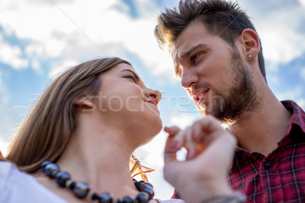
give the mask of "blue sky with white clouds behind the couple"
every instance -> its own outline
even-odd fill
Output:
[[[280,99],[305,109],[305,0],[238,0],[262,40],[267,80]],[[147,87],[163,93],[164,125],[185,127],[200,118],[180,81],[170,55],[154,37],[158,14],[178,0],[2,0],[0,2],[0,149],[37,95],[61,70],[101,56],[130,61]],[[162,179],[166,134],[138,150],[156,196],[172,187]]]

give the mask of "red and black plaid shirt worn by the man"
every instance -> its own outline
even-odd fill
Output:
[[[305,202],[305,113],[294,101],[282,104],[292,118],[275,151],[265,157],[236,149],[230,186],[247,202]]]

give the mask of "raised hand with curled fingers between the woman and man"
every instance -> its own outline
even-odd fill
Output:
[[[236,148],[235,137],[218,120],[206,116],[185,130],[165,127],[169,133],[164,152],[164,177],[186,202],[231,194],[227,183],[228,167]],[[176,152],[185,147],[185,161]]]

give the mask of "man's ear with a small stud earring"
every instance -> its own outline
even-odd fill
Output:
[[[243,54],[248,60],[253,60],[260,50],[257,33],[252,29],[244,29],[239,36],[239,41],[243,46]]]

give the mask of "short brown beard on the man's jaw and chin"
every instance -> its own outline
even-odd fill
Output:
[[[232,84],[229,88],[226,88],[228,90],[214,90],[216,94],[212,96],[210,89],[208,98],[210,98],[211,102],[208,105],[203,103],[199,107],[195,103],[202,116],[213,115],[227,125],[232,125],[237,120],[242,119],[245,116],[245,112],[256,110],[260,100],[256,94],[253,75],[249,67],[242,62],[237,48],[233,47],[231,53],[229,68],[234,80],[231,81]]]

